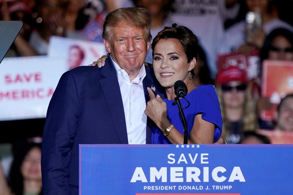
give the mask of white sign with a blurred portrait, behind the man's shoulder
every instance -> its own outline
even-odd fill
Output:
[[[48,56],[63,56],[68,70],[78,66],[87,66],[107,54],[105,45],[65,37],[50,37]]]

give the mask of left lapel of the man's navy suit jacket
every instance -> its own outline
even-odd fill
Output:
[[[121,144],[128,144],[123,101],[117,79],[117,73],[110,58],[106,59],[105,64],[106,65],[100,72],[100,74],[105,78],[101,79],[99,82],[105,95],[105,99]]]

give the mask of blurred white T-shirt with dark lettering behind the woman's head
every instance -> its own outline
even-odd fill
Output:
[[[192,30],[205,51],[211,77],[216,78],[216,65],[224,38],[224,21],[235,18],[239,11],[239,0],[181,1],[174,0],[169,16],[172,22]],[[234,36],[234,35],[233,35]]]

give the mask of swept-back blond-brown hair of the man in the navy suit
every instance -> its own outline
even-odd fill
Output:
[[[121,21],[127,21],[129,24],[144,29],[144,38],[151,41],[151,13],[145,8],[120,8],[110,13],[105,18],[103,25],[103,38],[110,40],[110,28]]]

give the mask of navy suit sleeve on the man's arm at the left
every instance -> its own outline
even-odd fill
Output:
[[[64,73],[49,103],[42,142],[44,194],[69,194],[69,162],[78,126],[79,98],[72,73]]]

